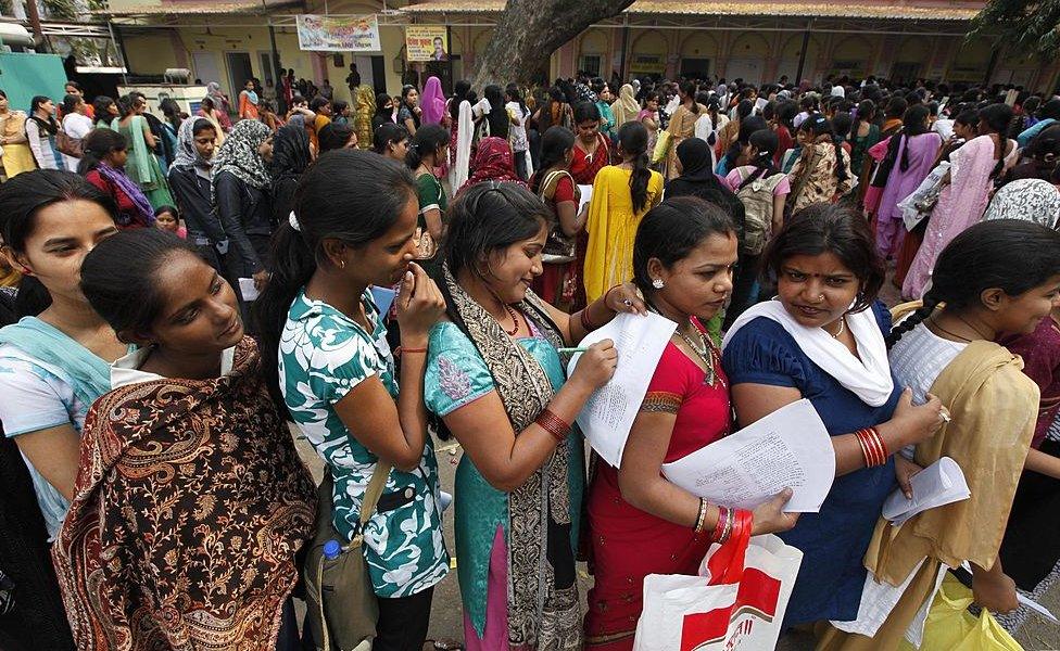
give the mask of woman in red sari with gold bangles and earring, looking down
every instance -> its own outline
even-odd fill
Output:
[[[732,293],[736,231],[720,207],[691,196],[667,200],[644,216],[633,245],[633,276],[649,309],[678,323],[633,421],[621,467],[598,460],[590,488],[595,587],[585,616],[586,648],[633,648],[648,574],[696,574],[714,541],[740,527],[786,531],[784,490],[755,510],[727,509],[660,473],[731,432],[729,382],[703,323]]]

